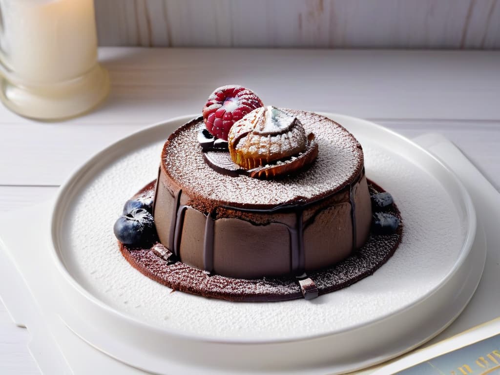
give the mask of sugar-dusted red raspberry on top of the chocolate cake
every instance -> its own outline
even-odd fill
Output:
[[[248,88],[235,84],[222,86],[208,96],[203,107],[203,121],[212,135],[227,140],[234,122],[263,105],[262,100]]]

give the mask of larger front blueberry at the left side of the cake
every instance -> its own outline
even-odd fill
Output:
[[[153,216],[144,208],[135,208],[116,220],[113,232],[125,244],[148,243],[154,238]]]

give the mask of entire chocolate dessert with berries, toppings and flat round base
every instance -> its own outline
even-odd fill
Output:
[[[215,114],[226,104],[214,102],[168,137],[156,182],[125,204],[121,222],[134,231],[115,224],[134,267],[195,294],[282,300],[338,289],[386,261],[400,241],[399,211],[390,194],[368,187],[352,134],[260,99],[224,127],[227,114],[225,122]]]

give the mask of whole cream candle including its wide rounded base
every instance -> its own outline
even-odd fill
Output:
[[[97,64],[93,0],[0,0],[0,95],[35,118],[68,117],[107,92]]]

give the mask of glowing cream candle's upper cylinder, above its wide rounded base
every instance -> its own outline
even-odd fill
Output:
[[[92,0],[0,0],[4,63],[20,79],[57,82],[96,60]]]

